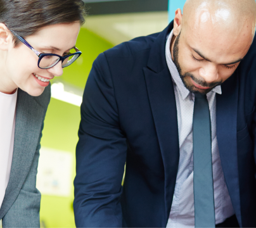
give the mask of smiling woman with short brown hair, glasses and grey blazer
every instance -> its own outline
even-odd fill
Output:
[[[35,181],[49,81],[80,56],[75,42],[84,15],[82,0],[0,0],[3,227],[40,226]]]

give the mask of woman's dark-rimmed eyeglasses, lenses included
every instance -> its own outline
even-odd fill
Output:
[[[15,35],[23,44],[25,44],[27,47],[29,47],[34,53],[38,56],[38,67],[41,69],[49,69],[53,66],[55,66],[59,61],[62,62],[61,66],[62,68],[70,66],[72,63],[74,63],[77,58],[82,54],[77,47],[74,47],[75,53],[67,53],[65,56],[60,56],[58,54],[51,54],[51,53],[40,53],[39,51],[35,50],[25,39],[20,37],[20,35],[17,35],[13,30],[10,30],[13,35]]]

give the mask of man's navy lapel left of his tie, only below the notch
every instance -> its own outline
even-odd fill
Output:
[[[160,73],[144,68],[148,96],[157,130],[163,166],[165,170],[165,215],[166,221],[172,205],[172,197],[179,167],[179,136],[177,109],[169,69]],[[166,224],[162,224],[163,227]]]

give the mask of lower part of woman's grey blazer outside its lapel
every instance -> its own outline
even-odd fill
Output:
[[[42,129],[43,126],[44,124],[42,124]],[[22,189],[20,189],[15,203],[13,203],[10,210],[3,217],[3,227],[40,227],[41,193],[35,187],[35,183],[42,129],[29,174],[25,179]]]

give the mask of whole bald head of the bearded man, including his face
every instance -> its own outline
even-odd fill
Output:
[[[187,0],[176,10],[172,59],[184,85],[207,93],[233,75],[255,35],[255,0]]]

